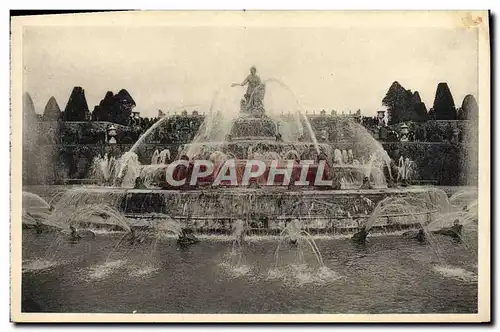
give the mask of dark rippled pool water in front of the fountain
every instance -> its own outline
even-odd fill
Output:
[[[77,243],[23,231],[23,312],[74,313],[474,313],[475,240],[433,246],[401,236],[316,239],[325,266],[276,238],[204,238],[187,250],[174,239],[116,246],[121,235]],[[436,254],[439,253],[439,255]]]

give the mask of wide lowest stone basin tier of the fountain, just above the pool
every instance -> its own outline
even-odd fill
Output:
[[[276,235],[292,219],[303,221],[313,234],[355,233],[372,215],[376,205],[387,197],[429,202],[412,213],[377,216],[373,231],[398,231],[428,224],[438,213],[429,187],[288,190],[280,187],[217,188],[197,190],[129,189],[80,187],[65,193],[71,205],[56,211],[71,214],[76,207],[104,204],[123,215],[131,227],[148,228],[172,218],[198,233],[228,234],[237,219],[247,220],[250,233]],[[69,216],[71,219],[71,216]]]

